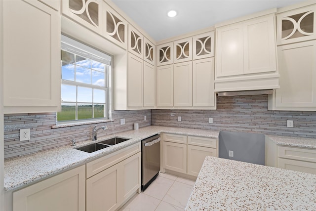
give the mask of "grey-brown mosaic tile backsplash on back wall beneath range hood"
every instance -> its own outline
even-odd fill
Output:
[[[268,95],[217,97],[217,110],[152,110],[152,125],[316,138],[316,112],[268,111]]]

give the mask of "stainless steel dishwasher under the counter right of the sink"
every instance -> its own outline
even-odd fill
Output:
[[[142,140],[142,190],[158,176],[160,170],[160,135]]]

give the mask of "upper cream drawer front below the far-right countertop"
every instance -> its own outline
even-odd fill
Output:
[[[316,162],[316,150],[300,147],[278,147],[278,157],[300,161]]]

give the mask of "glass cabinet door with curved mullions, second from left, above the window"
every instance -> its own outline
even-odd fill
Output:
[[[103,36],[127,49],[127,22],[105,2],[102,10]]]

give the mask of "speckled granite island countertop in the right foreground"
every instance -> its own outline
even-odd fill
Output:
[[[316,210],[316,175],[208,156],[185,210]]]

